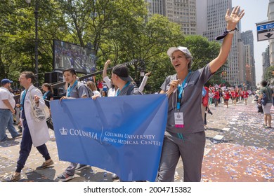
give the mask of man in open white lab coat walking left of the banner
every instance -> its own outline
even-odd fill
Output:
[[[48,148],[46,147],[46,142],[49,140],[48,126],[46,125],[46,119],[37,122],[35,117],[32,115],[32,102],[39,109],[44,109],[46,105],[41,91],[34,87],[35,76],[31,71],[24,71],[20,73],[19,82],[25,90],[21,94],[21,116],[20,120],[22,123],[22,141],[20,144],[19,158],[14,174],[7,176],[5,181],[18,181],[20,180],[20,173],[22,168],[25,166],[30,151],[32,149],[32,144],[37,148],[39,153],[43,155],[45,162],[37,167],[36,169],[45,169],[46,167],[51,167],[53,165],[53,160],[48,153]]]

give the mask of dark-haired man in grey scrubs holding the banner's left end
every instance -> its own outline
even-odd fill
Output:
[[[77,75],[74,69],[70,68],[63,70],[63,76],[65,78],[65,82],[69,84],[69,87],[67,87],[66,95],[61,97],[60,101],[63,99],[86,98],[88,96],[88,89],[84,86],[84,83],[78,83]],[[57,179],[64,182],[74,179],[75,172],[78,172],[86,167],[90,166],[70,162],[70,166],[65,169],[65,172],[59,174]]]

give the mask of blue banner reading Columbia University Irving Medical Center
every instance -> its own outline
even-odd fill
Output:
[[[51,102],[60,160],[155,181],[167,124],[165,94]]]

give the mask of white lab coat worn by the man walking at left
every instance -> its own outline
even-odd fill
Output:
[[[34,95],[37,95],[38,97],[40,97],[39,109],[44,109],[44,106],[46,106],[46,104],[43,99],[43,94],[41,93],[41,91],[37,87],[34,87],[34,85],[31,85],[29,87],[29,90],[27,90],[24,109],[25,109],[25,116],[27,119],[27,125],[30,130],[30,136],[32,137],[33,146],[37,147],[45,144],[50,137],[48,133],[48,125],[46,125],[46,120],[41,120],[40,122],[37,122],[34,120],[34,117],[32,117],[32,111],[31,111],[32,100],[30,98],[30,92],[32,93],[32,99],[34,99]],[[22,93],[21,93],[20,99],[22,99]],[[22,131],[24,131],[24,127],[22,127]]]

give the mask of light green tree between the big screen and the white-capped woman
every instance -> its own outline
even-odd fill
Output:
[[[163,53],[167,51],[169,45],[182,40],[183,34],[178,25],[169,22],[162,15],[152,15],[151,18],[140,16],[135,18],[135,22],[132,20],[134,18],[129,20],[129,23],[124,20],[123,27],[111,31],[109,36],[112,38],[111,41],[107,40],[108,44],[105,43],[102,48],[116,54],[115,58],[119,59],[120,62],[143,59],[147,66],[146,69],[154,72],[151,76],[152,80],[157,82],[158,79],[163,79],[166,74],[164,70],[167,64],[163,62],[165,57]],[[155,74],[154,67],[152,67],[155,64],[157,64],[157,69],[163,71],[162,73]],[[131,76],[140,80],[137,65],[132,68]]]

